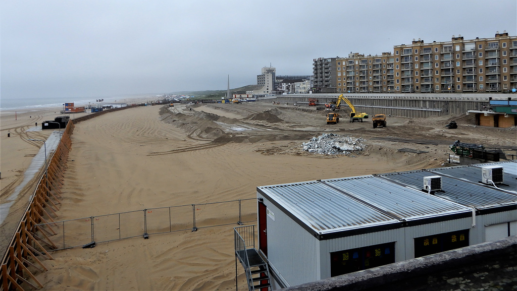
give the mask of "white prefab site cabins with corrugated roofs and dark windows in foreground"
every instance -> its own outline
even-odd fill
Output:
[[[517,235],[517,193],[440,170],[257,187],[272,289]]]

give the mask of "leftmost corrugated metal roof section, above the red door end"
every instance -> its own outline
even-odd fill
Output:
[[[399,222],[320,182],[257,187],[317,232]]]

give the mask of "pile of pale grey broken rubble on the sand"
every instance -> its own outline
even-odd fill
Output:
[[[342,136],[333,133],[324,133],[303,143],[303,150],[322,155],[349,155],[366,149],[362,144],[362,137]]]

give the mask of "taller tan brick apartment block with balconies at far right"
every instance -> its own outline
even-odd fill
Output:
[[[517,89],[517,37],[496,33],[494,38],[393,47],[396,93],[498,93]]]

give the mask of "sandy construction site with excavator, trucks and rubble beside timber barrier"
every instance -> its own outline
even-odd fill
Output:
[[[31,252],[38,253],[28,259],[40,259],[39,270],[19,268],[27,278],[18,283],[22,289],[70,285],[77,289],[233,289],[236,283],[245,286],[247,279],[241,269],[235,279],[233,225],[206,228],[226,225],[219,221],[229,211],[208,207],[211,203],[238,200],[238,218],[232,223],[255,224],[256,208],[243,206],[241,213],[240,201],[256,199],[256,189],[262,185],[517,159],[515,126],[479,126],[475,114],[432,106],[423,109],[434,111],[421,111],[432,116],[408,117],[401,114],[401,108],[368,108],[352,97],[347,99],[357,112],[369,117],[362,115],[362,122],[349,120],[349,106],[326,109],[325,104],[337,102],[338,96],[314,101],[288,96],[241,103],[132,106],[70,120],[73,134],[67,128],[62,137],[66,144],[59,151],[66,155],[58,157],[59,170],[53,166],[49,182],[43,175],[37,190],[42,196],[35,205],[45,208],[49,217],[41,212],[41,218],[36,215],[27,222],[31,229],[38,224],[47,230],[34,236],[30,229],[22,229],[21,238],[11,239],[12,255],[7,252],[4,258],[16,265],[14,257],[28,253],[21,247],[27,241],[32,243]],[[447,102],[448,108],[465,106]],[[328,124],[330,112],[344,116],[343,120]],[[384,114],[385,120],[374,127],[371,118],[377,114]],[[451,121],[455,127],[448,126]],[[14,186],[11,183],[11,189]],[[20,216],[25,217],[29,195],[14,202],[12,215],[2,225],[4,233],[16,231]],[[54,202],[48,202],[49,198]],[[171,232],[164,227],[151,229],[153,234],[149,234],[149,229],[135,224],[134,217],[127,224],[96,231],[96,236],[109,237],[120,235],[121,226],[133,225],[131,235],[94,240],[88,231],[90,223],[93,228],[94,221],[113,213],[144,210],[150,217],[151,209],[156,213],[158,208],[180,205],[188,205],[197,211],[196,219],[203,220],[171,234],[164,234]],[[65,225],[66,221],[86,223],[63,229],[73,236],[74,246],[87,248],[67,244],[64,230],[58,235],[60,228],[53,224]],[[81,233],[70,229],[81,229]],[[5,249],[9,239],[2,241]],[[214,259],[207,262],[207,257]],[[122,270],[120,264],[128,268]],[[16,289],[17,267],[4,266],[3,289]],[[27,272],[34,272],[34,277],[27,277]],[[4,277],[8,273],[9,280]],[[135,280],[127,280],[130,277]]]

